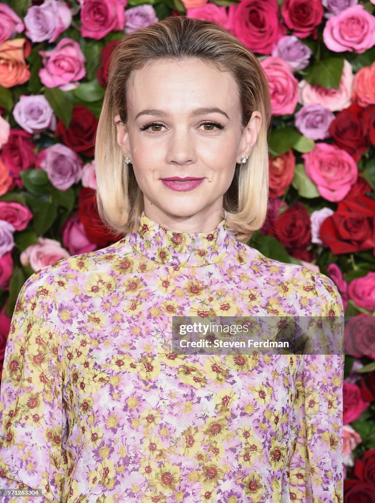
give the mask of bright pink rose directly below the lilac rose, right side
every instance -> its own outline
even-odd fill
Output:
[[[358,167],[353,157],[335,145],[317,143],[302,157],[306,175],[327,201],[342,201],[357,181]]]

